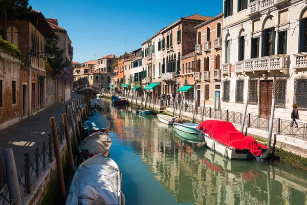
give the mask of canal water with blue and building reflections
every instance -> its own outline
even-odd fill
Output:
[[[108,104],[110,157],[126,204],[307,204],[307,175],[281,163],[227,160],[192,135]]]

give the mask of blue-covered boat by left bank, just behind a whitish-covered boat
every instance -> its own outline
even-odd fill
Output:
[[[110,122],[102,115],[93,115],[89,119],[83,122],[83,127],[86,129],[87,135],[90,135],[95,132],[104,132],[110,129]]]

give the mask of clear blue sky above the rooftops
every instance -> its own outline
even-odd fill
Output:
[[[59,26],[68,31],[74,47],[73,60],[79,63],[141,48],[146,39],[180,17],[221,13],[222,3],[222,0],[29,0],[33,9],[47,18],[57,18]]]

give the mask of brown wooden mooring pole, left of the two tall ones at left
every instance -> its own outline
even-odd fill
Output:
[[[53,138],[53,149],[54,149],[54,154],[55,154],[56,167],[57,167],[57,172],[58,172],[58,177],[59,177],[60,197],[62,201],[65,201],[65,196],[66,196],[65,182],[64,182],[64,175],[63,175],[63,169],[62,169],[58,135],[57,135],[57,130],[56,130],[56,122],[55,122],[54,117],[50,118],[50,124],[51,124],[52,138]]]

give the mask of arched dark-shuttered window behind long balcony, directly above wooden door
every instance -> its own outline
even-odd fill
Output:
[[[262,33],[262,57],[274,55],[275,53],[275,31],[274,28],[264,30]]]

